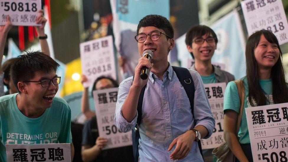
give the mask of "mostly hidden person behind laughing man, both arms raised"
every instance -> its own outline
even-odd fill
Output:
[[[44,31],[44,27],[45,27],[47,20],[45,19],[45,17],[43,17],[43,10],[39,10],[38,12],[40,14],[36,18],[36,23],[41,24],[41,26],[36,26],[36,30],[37,30],[37,33],[39,35],[39,42],[40,42],[41,50],[46,55],[50,56],[49,46],[48,46],[48,42],[46,40],[47,35],[45,35],[45,31]],[[1,60],[2,60],[3,55],[4,55],[4,47],[5,47],[5,42],[7,39],[7,34],[12,27],[9,16],[7,16],[6,21],[7,21],[7,23],[5,26],[2,26],[2,25],[0,26],[2,29],[2,30],[0,30],[1,31],[1,33],[0,33],[0,41],[1,41],[1,44],[0,44],[0,62],[2,62]],[[6,60],[5,63],[3,63],[3,65],[0,66],[0,73],[2,72],[2,74],[0,74],[0,76],[3,75],[3,79],[1,79],[1,77],[0,77],[0,80],[1,81],[3,80],[4,85],[8,89],[6,94],[17,93],[17,89],[14,86],[14,83],[13,83],[12,78],[10,76],[11,65],[17,59],[18,58],[11,58],[9,60]],[[4,72],[4,74],[3,74],[3,72]],[[3,86],[0,85],[0,87],[2,88]],[[3,90],[1,90],[1,88],[0,88],[0,93],[3,92]],[[3,95],[0,94],[0,96],[3,96]]]

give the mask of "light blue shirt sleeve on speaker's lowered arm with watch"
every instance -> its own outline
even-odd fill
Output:
[[[211,107],[206,95],[205,87],[202,79],[197,71],[189,70],[194,81],[194,120],[195,127],[202,125],[207,128],[208,135],[204,139],[209,138],[215,127],[215,120],[211,111]]]

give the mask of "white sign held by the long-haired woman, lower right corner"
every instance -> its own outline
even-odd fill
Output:
[[[246,108],[253,161],[288,161],[288,103]]]

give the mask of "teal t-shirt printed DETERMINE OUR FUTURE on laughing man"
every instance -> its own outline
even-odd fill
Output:
[[[0,97],[0,161],[6,160],[5,144],[72,143],[71,110],[54,97],[52,106],[38,118],[20,112],[16,94]]]

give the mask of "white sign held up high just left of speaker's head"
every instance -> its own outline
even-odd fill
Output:
[[[88,81],[84,87],[92,86],[99,76],[110,76],[116,80],[112,35],[80,43],[82,73]]]

